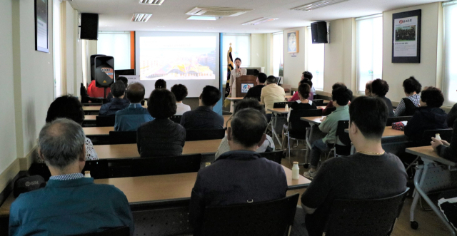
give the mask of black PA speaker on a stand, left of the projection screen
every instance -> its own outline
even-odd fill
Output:
[[[95,86],[105,88],[104,98],[106,98],[106,88],[114,83],[114,57],[96,56],[95,57]]]

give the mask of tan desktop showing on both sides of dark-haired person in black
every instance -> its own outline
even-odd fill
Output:
[[[183,155],[197,153],[216,153],[221,139],[187,141],[184,144]],[[94,150],[99,159],[110,158],[138,158],[138,148],[136,143],[116,144],[116,145],[94,145]]]

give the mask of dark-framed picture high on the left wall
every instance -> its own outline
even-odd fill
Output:
[[[35,1],[35,50],[49,53],[48,0]]]

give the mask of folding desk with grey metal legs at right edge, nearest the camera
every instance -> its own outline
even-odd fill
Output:
[[[457,187],[457,171],[456,163],[450,160],[441,158],[431,146],[417,147],[417,148],[406,148],[406,153],[418,155],[423,160],[423,165],[418,165],[416,168],[416,174],[414,175],[414,186],[416,191],[411,204],[409,212],[409,220],[411,227],[413,225],[418,226],[418,222],[414,220],[414,211],[420,197],[423,197],[428,205],[432,208],[433,212],[438,215],[440,220],[443,222],[448,230],[451,231],[451,235],[456,235],[456,231],[449,224],[446,217],[444,217],[441,210],[432,202],[428,197],[428,193],[448,190]]]

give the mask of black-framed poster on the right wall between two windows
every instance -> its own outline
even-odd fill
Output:
[[[392,63],[421,63],[421,10],[392,15]]]

